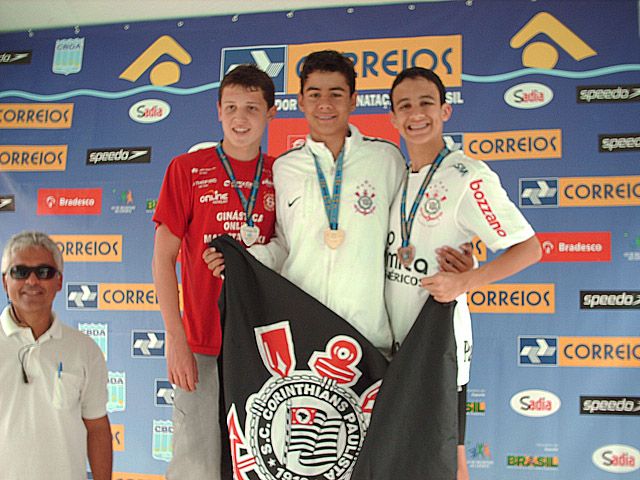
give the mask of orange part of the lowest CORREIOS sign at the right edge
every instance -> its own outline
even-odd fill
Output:
[[[560,337],[562,367],[640,367],[640,337]]]

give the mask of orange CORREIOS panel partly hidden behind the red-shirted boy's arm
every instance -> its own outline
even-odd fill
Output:
[[[182,285],[178,285],[182,310]],[[99,310],[160,310],[153,283],[101,283]]]

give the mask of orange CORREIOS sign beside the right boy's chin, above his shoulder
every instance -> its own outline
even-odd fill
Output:
[[[511,130],[464,134],[465,151],[478,160],[562,158],[562,130]]]

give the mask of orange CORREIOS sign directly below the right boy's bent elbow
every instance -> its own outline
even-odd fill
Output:
[[[474,313],[554,313],[555,284],[502,283],[482,287],[467,295]]]

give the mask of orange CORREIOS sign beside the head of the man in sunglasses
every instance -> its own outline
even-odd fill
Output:
[[[51,235],[65,262],[122,262],[122,235]]]

